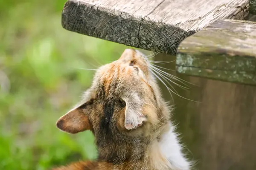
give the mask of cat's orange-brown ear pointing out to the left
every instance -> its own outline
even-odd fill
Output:
[[[78,133],[85,130],[90,130],[91,125],[86,114],[87,103],[73,108],[71,111],[61,116],[56,125],[57,127],[67,133]]]

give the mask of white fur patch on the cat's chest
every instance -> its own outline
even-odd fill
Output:
[[[190,163],[182,153],[182,146],[171,122],[169,130],[152,146],[151,154],[151,164],[157,170],[190,170]]]

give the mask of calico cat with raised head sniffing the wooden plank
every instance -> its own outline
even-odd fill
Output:
[[[91,130],[97,161],[53,170],[190,170],[170,112],[146,56],[125,49],[118,60],[97,69],[79,105],[56,123],[67,133]]]

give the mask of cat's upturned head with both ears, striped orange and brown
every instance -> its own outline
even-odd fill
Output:
[[[57,121],[57,127],[68,133],[91,130],[95,136],[148,136],[168,119],[161,105],[147,58],[126,49],[118,60],[96,71],[82,101]]]

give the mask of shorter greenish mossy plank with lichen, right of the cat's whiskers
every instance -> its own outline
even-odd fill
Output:
[[[256,22],[218,20],[180,43],[177,71],[256,85]]]

